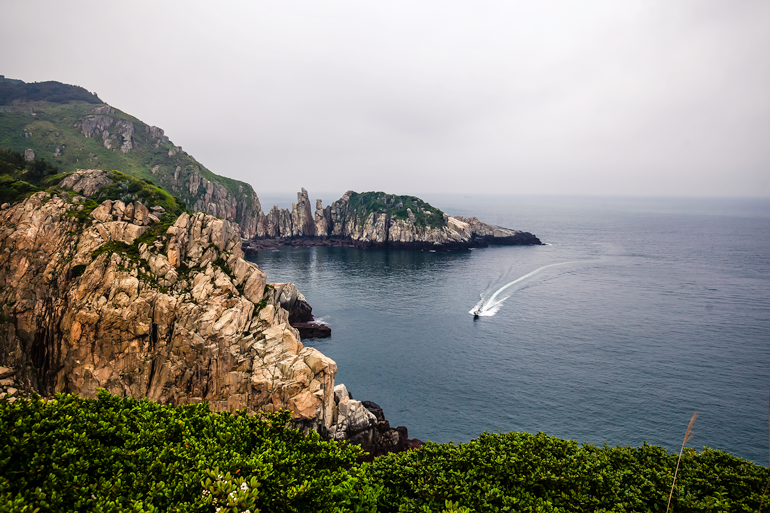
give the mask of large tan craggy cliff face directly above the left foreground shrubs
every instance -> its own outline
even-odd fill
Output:
[[[288,408],[330,428],[336,364],[303,346],[286,287],[243,259],[238,227],[203,213],[171,224],[140,200],[89,207],[109,178],[78,172],[0,210],[0,365],[43,395]]]

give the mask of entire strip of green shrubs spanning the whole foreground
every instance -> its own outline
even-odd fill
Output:
[[[676,465],[660,447],[542,433],[484,433],[356,465],[360,449],[290,420],[106,392],[0,399],[0,511],[658,512]],[[757,511],[769,474],[687,449],[672,511]]]

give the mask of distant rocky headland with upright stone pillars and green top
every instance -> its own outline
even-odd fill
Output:
[[[303,188],[291,210],[258,213],[257,239],[336,240],[365,248],[458,249],[489,244],[537,245],[529,232],[461,216],[452,217],[414,196],[346,192],[326,208]],[[247,247],[259,247],[259,244]]]

